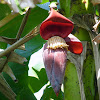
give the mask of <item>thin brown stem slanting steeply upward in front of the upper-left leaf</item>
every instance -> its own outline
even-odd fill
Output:
[[[18,31],[17,36],[16,36],[17,40],[19,40],[20,37],[21,37],[21,34],[22,34],[22,32],[23,32],[23,30],[24,30],[24,27],[25,27],[25,25],[26,25],[26,22],[27,22],[27,20],[28,20],[28,16],[29,16],[29,14],[30,14],[30,11],[31,11],[31,8],[28,9],[28,11],[26,12],[26,14],[25,14],[25,16],[24,16],[24,18],[23,18],[23,20],[22,20],[22,23],[21,23],[21,25],[20,25],[19,31]]]

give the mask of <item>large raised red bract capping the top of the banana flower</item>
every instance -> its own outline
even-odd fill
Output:
[[[51,8],[50,15],[40,26],[40,35],[48,40],[52,36],[67,37],[73,30],[73,23]]]

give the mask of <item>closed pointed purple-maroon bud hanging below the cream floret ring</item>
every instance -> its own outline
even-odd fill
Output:
[[[58,96],[65,74],[67,50],[48,49],[46,43],[43,48],[43,61],[51,86]]]

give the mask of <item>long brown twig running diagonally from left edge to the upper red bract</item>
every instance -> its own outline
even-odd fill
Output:
[[[22,44],[26,43],[27,41],[29,41],[30,39],[32,39],[33,37],[35,37],[36,35],[38,35],[39,34],[39,28],[40,28],[40,25],[38,25],[37,27],[35,27],[31,32],[29,32],[21,40],[15,42],[13,45],[11,45],[7,49],[5,49],[3,52],[0,53],[0,57],[6,56],[7,54],[9,54],[14,49],[17,49],[19,46],[21,46]]]

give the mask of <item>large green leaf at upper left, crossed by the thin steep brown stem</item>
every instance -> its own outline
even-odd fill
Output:
[[[0,28],[0,35],[6,36],[10,38],[15,38],[22,22],[22,18],[24,15],[18,15],[6,25]],[[29,33],[35,26],[40,24],[46,17],[48,16],[48,12],[39,7],[35,7],[31,10],[30,16],[28,18],[27,24],[23,31],[22,37],[25,34]]]

